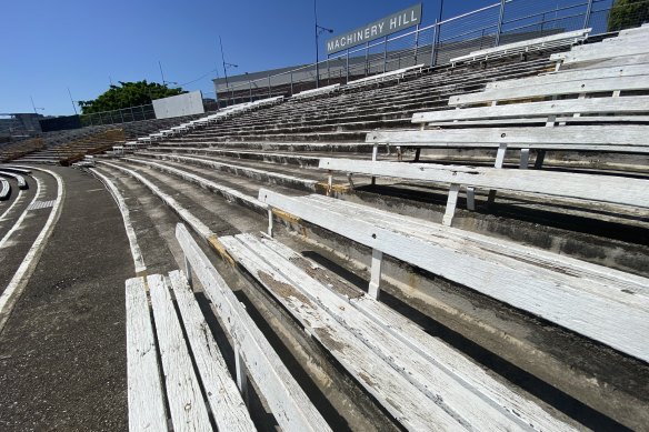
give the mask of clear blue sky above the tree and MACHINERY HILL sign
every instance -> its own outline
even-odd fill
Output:
[[[423,0],[431,23],[440,0]],[[417,0],[319,0],[319,23],[336,33],[416,4]],[[452,17],[496,0],[447,0]],[[312,0],[92,1],[33,0],[2,4],[0,26],[0,112],[72,114],[74,100],[93,99],[118,81],[186,83],[213,91],[219,36],[226,60],[253,72],[314,60]],[[321,58],[326,36],[320,39]],[[210,96],[207,93],[206,96]],[[212,93],[213,96],[213,93]]]

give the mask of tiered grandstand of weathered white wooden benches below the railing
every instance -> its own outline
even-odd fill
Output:
[[[647,420],[641,398],[610,385],[606,372],[580,371],[588,370],[590,359],[598,359],[602,370],[630,364],[630,370],[643,371],[649,362],[643,343],[649,331],[643,254],[649,220],[649,152],[643,138],[649,128],[649,59],[633,36],[643,31],[620,33],[618,38],[633,42],[628,47],[621,39],[605,40],[552,58],[539,54],[521,62],[502,56],[489,64],[458,62],[402,80],[340,86],[254,110],[239,107],[158,132],[141,140],[142,145],[129,144],[136,150],[132,155],[99,158],[98,167],[130,175],[161,198],[213,251],[236,264],[240,275],[274,299],[398,426],[571,428],[397,314],[388,305],[393,301],[377,301],[388,279],[407,285],[408,294],[399,300],[417,311],[425,310],[413,305],[423,302],[418,297],[422,281],[443,284],[439,298],[431,295],[432,302],[441,303],[437,310],[451,310],[433,317],[442,325],[477,343],[475,333],[488,333],[486,338],[495,342],[486,350],[499,361],[605,416],[637,426],[638,419]],[[409,129],[413,123],[417,129]],[[385,155],[379,155],[383,147]],[[405,149],[410,148],[425,149],[415,152],[417,163],[403,162]],[[521,150],[520,155],[508,158],[510,149]],[[539,170],[520,170],[528,168],[530,150]],[[478,163],[457,163],[467,161]],[[519,169],[505,168],[510,162]],[[493,167],[482,167],[487,163]],[[322,181],[322,170],[330,171],[328,182]],[[345,175],[349,173],[360,175]],[[381,178],[380,184],[370,185],[372,177]],[[368,294],[297,253],[281,235],[217,237],[192,208],[180,205],[180,197],[177,200],[167,190],[182,195],[176,184],[184,182],[268,215],[269,234],[273,228],[280,231],[274,225],[279,221],[300,234],[296,241],[345,257],[345,265],[337,265],[352,273],[346,279],[368,280]],[[469,188],[467,204],[472,209],[473,188],[506,191],[502,200],[511,207],[499,214],[489,214],[489,207],[488,214],[473,212],[451,227],[461,185]],[[440,190],[446,211],[429,199]],[[431,209],[446,213],[442,223],[429,215]],[[234,324],[229,320],[232,311],[248,320],[189,232],[178,228],[177,235],[190,262],[188,277],[193,270],[207,284],[220,321],[236,325],[236,319]],[[557,245],[566,242],[572,247]],[[626,260],[626,254],[632,257]],[[447,307],[447,295],[466,297],[456,308]],[[486,319],[476,312],[475,304],[482,301],[493,305],[482,311]],[[521,355],[510,356],[507,351],[516,350],[520,340],[507,325],[491,326],[490,320],[508,321],[518,313],[529,321],[512,325],[531,335],[523,338],[529,344],[518,346]],[[553,339],[535,339],[541,328],[566,334],[570,343],[561,354],[580,359],[580,364],[572,369],[573,363],[559,359],[550,366],[527,359],[525,354],[536,359],[552,351]],[[189,332],[188,340],[191,344]],[[252,341],[266,346],[262,335],[248,340]],[[582,343],[588,348],[577,346]],[[258,363],[247,356],[253,354],[244,346],[237,349],[238,364],[246,363],[253,375]],[[272,355],[270,348],[261,351]],[[608,364],[608,359],[619,361]],[[279,360],[279,365],[269,362],[271,369],[283,366]],[[261,378],[252,378],[261,385]],[[243,391],[242,375],[237,379]],[[272,394],[271,388],[261,391],[266,398],[267,391]],[[616,402],[617,398],[629,403]],[[621,404],[629,410],[625,414],[618,411]]]

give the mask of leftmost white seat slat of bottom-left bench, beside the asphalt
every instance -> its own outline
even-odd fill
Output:
[[[160,366],[143,278],[126,282],[129,430],[167,431]]]

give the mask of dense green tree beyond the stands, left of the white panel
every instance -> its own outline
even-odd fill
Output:
[[[180,88],[170,89],[157,82],[119,82],[119,86],[110,88],[94,100],[79,101],[81,112],[91,114],[94,112],[112,111],[122,108],[146,106],[153,99],[168,98],[186,93]]]

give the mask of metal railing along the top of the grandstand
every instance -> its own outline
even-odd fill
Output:
[[[347,83],[420,63],[446,64],[471,51],[588,27],[592,28],[591,34],[605,33],[609,31],[612,7],[613,0],[501,0],[328,56],[318,63],[319,82]],[[236,79],[231,77],[229,84],[214,89],[220,107],[314,89],[316,63],[256,80],[232,82]]]

